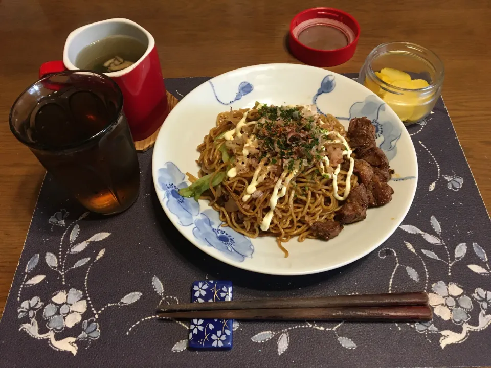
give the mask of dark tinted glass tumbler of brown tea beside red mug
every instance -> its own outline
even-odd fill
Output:
[[[28,87],[10,130],[87,210],[116,214],[138,197],[140,168],[118,85],[92,71],[55,73]]]

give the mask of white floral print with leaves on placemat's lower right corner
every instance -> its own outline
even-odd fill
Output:
[[[469,258],[465,257],[468,254],[467,243],[459,243],[455,246],[447,244],[441,236],[442,228],[435,216],[430,217],[430,224],[434,234],[422,231],[413,225],[403,224],[399,226],[405,232],[418,235],[429,243],[429,245],[424,246],[426,249],[416,249],[411,243],[404,241],[406,248],[419,259],[425,272],[424,290],[428,290],[429,269],[433,269],[433,267],[427,267],[426,262],[445,264],[449,278],[448,281],[439,280],[431,285],[429,304],[436,317],[431,322],[409,324],[409,326],[425,335],[439,334],[440,347],[443,349],[450,344],[462,343],[471,332],[482,331],[491,325],[491,314],[487,313],[491,301],[491,291],[487,291],[483,287],[477,287],[474,291],[466,291],[455,282],[457,277],[452,277],[452,267],[457,262],[469,262],[465,262]],[[472,243],[472,250],[479,259],[477,262],[479,264],[471,261],[472,263],[466,264],[466,269],[482,277],[491,275],[486,251],[476,242]],[[384,259],[387,255],[391,255],[395,259],[395,267],[389,279],[389,292],[392,292],[394,275],[399,267],[404,267],[412,280],[417,283],[420,282],[419,274],[415,269],[416,266],[401,265],[394,249],[385,248],[379,251],[380,258]],[[476,305],[479,308],[475,308]],[[449,323],[451,324],[449,325]],[[453,327],[449,328],[449,326]]]

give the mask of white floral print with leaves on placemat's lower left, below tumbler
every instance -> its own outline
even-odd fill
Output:
[[[44,256],[44,261],[46,261],[49,269],[61,275],[61,285],[59,285],[61,287],[55,287],[51,300],[49,301],[43,302],[39,296],[33,296],[20,302],[24,288],[33,287],[44,282],[47,278],[47,275],[45,274],[32,275],[35,273],[34,270],[41,258],[40,255],[36,253],[27,262],[24,270],[24,280],[17,293],[17,302],[19,302],[17,312],[20,320],[27,319],[27,323],[20,325],[19,331],[26,331],[30,336],[38,340],[48,340],[49,346],[55,350],[68,351],[73,355],[76,355],[81,341],[86,341],[86,348],[88,348],[92,340],[96,340],[100,337],[101,330],[99,318],[106,308],[112,306],[121,307],[135,303],[142,296],[142,293],[133,291],[123,296],[119,302],[108,303],[99,311],[96,310],[89,295],[88,275],[91,267],[104,256],[106,251],[105,248],[99,250],[95,259],[85,257],[80,258],[75,262],[69,261],[69,259],[73,259],[73,255],[81,253],[92,243],[100,242],[111,234],[97,233],[90,238],[79,242],[77,241],[80,234],[79,222],[88,216],[88,212],[82,214],[76,221],[70,224],[67,224],[68,216],[68,211],[61,210],[51,216],[48,220],[52,225],[66,228],[61,235],[58,257],[52,252],[47,252]],[[66,235],[69,231],[70,236],[66,239]],[[72,264],[72,266],[69,266],[69,264]],[[73,280],[68,280],[67,274],[71,270],[85,265],[88,265],[85,271],[85,277],[79,281],[79,284],[83,285],[82,290],[70,287],[70,282],[75,283],[76,280],[75,278],[73,278]],[[57,279],[55,277],[52,279],[53,281],[51,284],[56,285]],[[42,308],[43,306],[44,308]],[[80,324],[81,321],[82,323]],[[42,330],[46,332],[42,333]],[[71,336],[59,339],[59,334],[65,330],[69,330]],[[63,335],[65,336],[66,333]]]

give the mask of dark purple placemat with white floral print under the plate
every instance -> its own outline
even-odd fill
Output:
[[[351,75],[351,77],[355,77]],[[208,78],[168,79],[182,98]],[[86,213],[44,179],[0,321],[0,366],[469,367],[491,365],[489,216],[443,101],[409,127],[416,197],[380,248],[343,268],[302,277],[242,271],[176,231],[139,155],[141,193],[126,212]],[[188,302],[195,280],[231,280],[234,298],[430,292],[424,324],[235,321],[231,351],[189,351],[189,325],[154,318]]]

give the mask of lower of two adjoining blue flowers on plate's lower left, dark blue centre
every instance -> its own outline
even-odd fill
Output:
[[[251,240],[230,227],[222,227],[218,212],[205,210],[194,221],[193,235],[208,246],[219,250],[227,258],[242,262],[252,258],[254,247]]]

